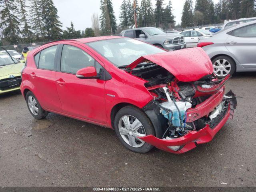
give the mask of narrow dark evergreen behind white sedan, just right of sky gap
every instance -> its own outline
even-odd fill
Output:
[[[181,24],[182,27],[193,26],[193,7],[192,0],[186,0],[183,6]]]

